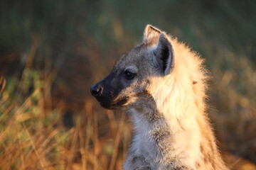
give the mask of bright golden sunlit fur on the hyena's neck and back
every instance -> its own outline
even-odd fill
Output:
[[[205,113],[207,77],[203,61],[177,40],[172,44],[176,52],[173,72],[151,78],[149,86],[149,93],[171,128],[171,152],[166,159],[174,159],[189,169],[224,169]],[[205,162],[201,145],[208,149],[213,162]]]

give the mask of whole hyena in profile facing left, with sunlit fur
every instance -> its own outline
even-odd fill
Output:
[[[226,169],[205,112],[203,60],[165,32],[146,26],[141,45],[91,87],[100,105],[122,109],[135,135],[124,169]]]

